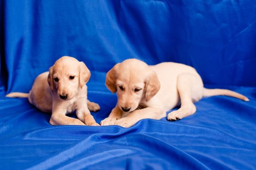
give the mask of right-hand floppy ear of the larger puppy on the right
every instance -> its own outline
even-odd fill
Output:
[[[148,102],[158,93],[160,89],[160,82],[155,71],[150,71],[149,76],[145,82],[145,85],[145,101]]]

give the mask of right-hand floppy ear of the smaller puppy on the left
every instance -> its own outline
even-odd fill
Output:
[[[85,66],[83,62],[79,62],[79,86],[80,88],[85,85],[91,77],[90,70]]]

